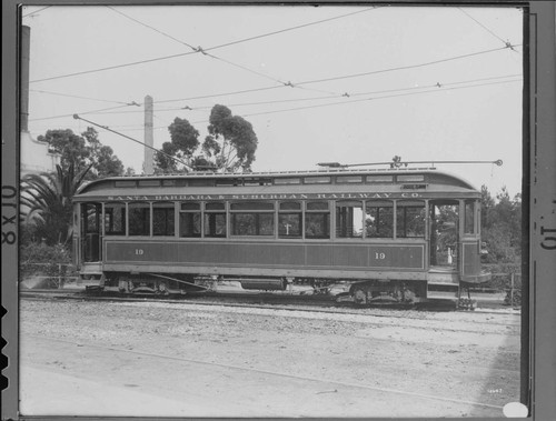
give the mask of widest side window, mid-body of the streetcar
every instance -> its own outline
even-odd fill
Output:
[[[231,233],[234,235],[274,235],[274,209],[275,204],[271,202],[232,203]]]

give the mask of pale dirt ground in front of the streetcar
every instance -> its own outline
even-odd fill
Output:
[[[502,417],[518,312],[21,300],[23,415]]]

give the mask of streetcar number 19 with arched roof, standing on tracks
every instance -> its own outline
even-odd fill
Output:
[[[100,291],[305,285],[358,304],[467,305],[490,279],[480,192],[434,168],[107,178],[73,208],[75,264]]]

